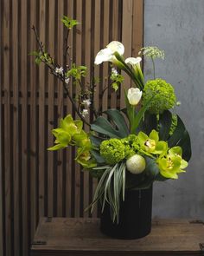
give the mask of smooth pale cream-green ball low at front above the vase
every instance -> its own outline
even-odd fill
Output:
[[[131,174],[141,174],[146,167],[146,162],[142,155],[134,154],[126,161],[126,167]]]

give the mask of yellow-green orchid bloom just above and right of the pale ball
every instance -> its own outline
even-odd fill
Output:
[[[168,145],[166,141],[159,141],[159,135],[156,130],[152,130],[150,135],[146,135],[143,132],[138,134],[139,150],[143,154],[163,154],[167,151]]]

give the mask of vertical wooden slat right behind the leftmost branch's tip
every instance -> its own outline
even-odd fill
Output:
[[[36,26],[36,2],[30,2],[30,24],[31,26]],[[35,43],[35,34],[33,31],[31,33],[31,41],[30,41],[30,51],[36,48]],[[35,227],[37,225],[37,191],[36,191],[36,184],[37,184],[37,163],[36,163],[36,64],[34,58],[30,61],[30,237],[31,240],[35,234]]]

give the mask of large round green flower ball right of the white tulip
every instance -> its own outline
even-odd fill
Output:
[[[150,102],[151,114],[162,114],[164,110],[175,106],[175,89],[163,79],[157,78],[146,82],[143,88],[143,104],[149,102],[152,95],[155,96]]]

